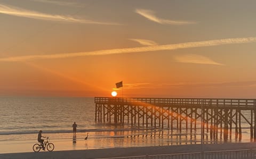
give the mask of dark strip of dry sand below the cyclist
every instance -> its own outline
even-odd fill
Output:
[[[232,144],[205,144],[204,151],[234,150],[256,148],[255,143],[232,143]],[[0,158],[103,158],[103,157],[124,157],[138,155],[157,155],[172,153],[200,152],[201,145],[172,145],[154,147],[130,147],[130,148],[103,148],[87,150],[57,150],[53,152],[29,152],[29,153],[4,153]]]

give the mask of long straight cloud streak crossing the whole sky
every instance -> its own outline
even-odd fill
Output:
[[[91,52],[14,56],[14,57],[0,58],[0,61],[26,61],[26,60],[36,60],[36,59],[49,59],[49,58],[69,58],[69,57],[79,57],[79,56],[155,52],[155,51],[167,51],[167,50],[171,51],[171,50],[182,49],[182,48],[207,47],[207,46],[218,46],[218,45],[227,45],[227,44],[243,44],[243,43],[253,43],[253,42],[256,42],[256,37],[229,38],[229,39],[196,41],[196,42],[179,43],[179,44],[143,46],[143,47],[132,47],[132,48],[116,48],[116,49],[106,49],[106,50],[91,51]]]

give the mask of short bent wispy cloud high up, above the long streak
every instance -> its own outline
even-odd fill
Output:
[[[144,16],[148,20],[151,20],[151,21],[154,21],[154,22],[157,22],[160,24],[182,25],[182,24],[194,24],[195,23],[195,22],[191,22],[191,21],[175,21],[175,20],[167,20],[167,19],[158,18],[155,15],[155,12],[151,11],[151,10],[136,9],[135,12]]]

